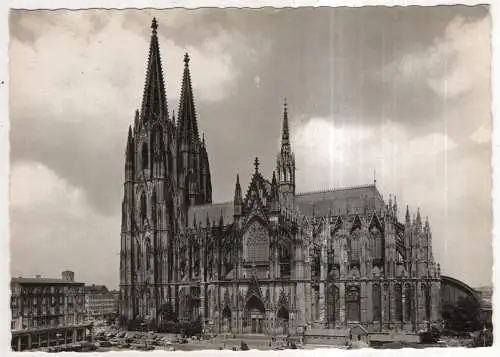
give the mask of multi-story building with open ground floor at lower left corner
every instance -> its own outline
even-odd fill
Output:
[[[86,338],[83,283],[64,271],[62,279],[11,279],[12,348],[48,347]]]

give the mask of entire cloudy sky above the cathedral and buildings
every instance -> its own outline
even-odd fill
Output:
[[[283,98],[298,190],[369,184],[429,216],[442,273],[490,285],[484,7],[13,11],[11,272],[118,285],[128,125],[153,16],[171,110],[191,56],[215,201],[271,175]]]

